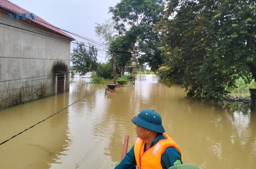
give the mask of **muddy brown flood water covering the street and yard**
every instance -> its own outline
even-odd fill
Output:
[[[201,169],[256,168],[256,112],[250,104],[187,100],[155,75],[137,76],[115,93],[74,78],[70,91],[0,110],[1,169],[114,168],[136,140],[134,115],[155,109],[166,133],[183,152],[183,163]]]

